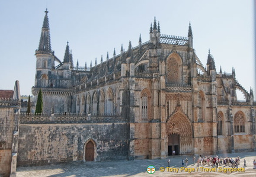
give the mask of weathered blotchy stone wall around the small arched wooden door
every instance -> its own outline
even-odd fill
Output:
[[[126,123],[20,124],[18,166],[85,160],[85,142],[96,145],[94,161],[127,159]]]

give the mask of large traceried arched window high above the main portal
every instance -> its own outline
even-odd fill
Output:
[[[180,83],[180,67],[174,57],[167,60],[167,72],[167,82]]]

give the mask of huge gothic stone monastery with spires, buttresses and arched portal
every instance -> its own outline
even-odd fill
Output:
[[[149,41],[87,67],[74,65],[69,44],[63,60],[55,56],[47,13],[32,88],[43,114],[20,115],[18,165],[256,150],[252,89],[234,69],[217,72],[210,51],[203,66],[190,24],[187,37],[169,36],[155,19]]]

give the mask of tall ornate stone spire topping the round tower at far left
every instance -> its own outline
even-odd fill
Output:
[[[44,11],[46,14],[44,15],[43,27],[41,28],[41,36],[39,41],[39,49],[36,53],[53,53],[52,47],[50,44],[50,28],[49,28],[49,19],[48,19],[48,11]]]

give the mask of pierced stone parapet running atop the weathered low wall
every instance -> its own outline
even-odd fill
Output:
[[[120,114],[21,114],[20,124],[126,123]]]

